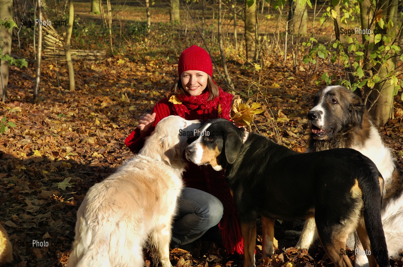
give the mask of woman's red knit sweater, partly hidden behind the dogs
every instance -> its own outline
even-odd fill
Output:
[[[221,97],[221,109],[226,111],[225,115],[222,114],[220,117],[229,119],[229,108],[231,106],[232,95],[226,92],[220,92]],[[161,99],[155,106],[152,113],[156,113],[155,121],[150,127],[150,129],[143,135],[140,134],[140,130],[136,128],[125,140],[125,144],[133,153],[138,153],[143,147],[145,137],[149,136],[152,131],[154,131],[157,123],[169,115],[175,114],[173,103],[168,101],[168,98]],[[202,119],[206,121],[207,119],[218,118],[218,104],[217,107],[210,113],[206,114],[202,109],[191,109],[188,110],[189,113],[185,114],[185,119],[194,120]],[[224,112],[223,112],[224,113]],[[239,218],[236,211],[233,198],[226,185],[224,171],[217,172],[208,165],[197,166],[193,162],[188,161],[187,169],[183,173],[183,181],[185,186],[203,190],[208,192],[222,202],[224,206],[224,215],[220,221],[220,232],[223,236],[223,243],[228,253],[234,253],[235,251],[239,254],[243,254],[243,242],[241,231],[239,228]]]

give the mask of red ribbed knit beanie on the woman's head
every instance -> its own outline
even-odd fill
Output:
[[[213,66],[210,55],[202,47],[192,45],[185,49],[178,62],[178,76],[187,70],[198,70],[213,76]]]

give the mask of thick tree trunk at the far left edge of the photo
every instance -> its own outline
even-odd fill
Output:
[[[0,0],[0,19],[12,19],[12,0]],[[2,55],[11,54],[11,37],[12,28],[7,29],[0,26],[0,48]],[[5,60],[0,62],[0,98],[3,102],[7,101],[7,84],[8,84],[8,63]]]

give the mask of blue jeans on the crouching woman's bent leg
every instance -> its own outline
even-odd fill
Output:
[[[224,207],[204,191],[184,187],[178,198],[178,215],[172,228],[171,245],[189,244],[220,222]]]

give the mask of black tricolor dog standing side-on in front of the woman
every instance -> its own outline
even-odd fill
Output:
[[[380,217],[383,179],[375,164],[353,149],[297,153],[226,119],[207,121],[186,148],[187,159],[226,168],[239,212],[245,265],[255,266],[256,219],[262,216],[263,256],[273,252],[274,221],[315,218],[320,241],[338,267],[352,267],[346,240],[357,230],[370,266],[389,265]],[[368,230],[368,231],[367,231]]]

